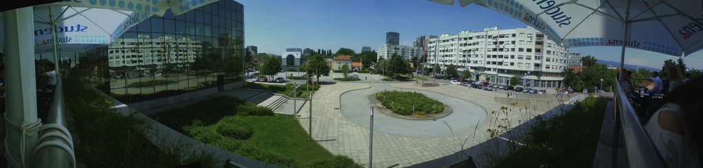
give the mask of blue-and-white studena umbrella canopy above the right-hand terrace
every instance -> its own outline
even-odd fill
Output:
[[[454,3],[453,0],[430,1]],[[703,1],[458,1],[461,6],[475,3],[505,13],[569,47],[625,44],[628,48],[671,56],[688,56],[703,47]],[[624,22],[630,27],[626,31]],[[625,32],[628,38],[623,40]]]

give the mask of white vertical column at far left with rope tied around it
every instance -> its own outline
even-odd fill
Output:
[[[4,11],[8,167],[31,167],[41,122],[37,118],[32,7]]]

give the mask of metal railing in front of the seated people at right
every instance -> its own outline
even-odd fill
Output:
[[[616,79],[617,81],[617,79]],[[613,113],[613,167],[617,167],[617,143],[619,142],[619,126],[624,133],[625,150],[627,151],[630,167],[666,167],[662,156],[652,143],[650,136],[640,124],[640,119],[622,90],[619,82],[615,82],[615,110]]]

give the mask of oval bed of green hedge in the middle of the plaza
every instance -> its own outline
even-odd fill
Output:
[[[444,104],[428,98],[423,93],[409,91],[382,91],[376,93],[376,99],[383,106],[400,115],[430,115],[444,111]]]

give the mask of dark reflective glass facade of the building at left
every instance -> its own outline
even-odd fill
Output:
[[[209,88],[218,76],[224,84],[237,82],[243,79],[243,19],[242,4],[231,0],[178,16],[167,12],[109,46],[79,54],[73,71],[118,99]]]

